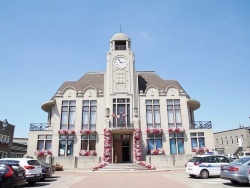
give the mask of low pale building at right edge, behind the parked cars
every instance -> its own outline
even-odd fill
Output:
[[[239,127],[214,133],[215,150],[218,154],[239,154],[250,151],[250,127]]]

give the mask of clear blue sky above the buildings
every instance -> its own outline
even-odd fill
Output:
[[[109,40],[132,40],[136,70],[177,80],[213,131],[250,125],[249,0],[0,0],[0,120],[28,137],[64,81],[106,69]]]

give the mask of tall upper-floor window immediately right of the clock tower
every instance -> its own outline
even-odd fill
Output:
[[[161,128],[159,100],[146,100],[147,127]]]

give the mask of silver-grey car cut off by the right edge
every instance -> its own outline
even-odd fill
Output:
[[[220,178],[230,180],[232,183],[248,183],[250,170],[250,157],[237,159],[227,165],[221,166]]]

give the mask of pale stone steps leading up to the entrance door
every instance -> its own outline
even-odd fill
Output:
[[[134,163],[113,163],[108,164],[103,168],[99,168],[99,171],[140,171],[148,170],[148,168]]]

